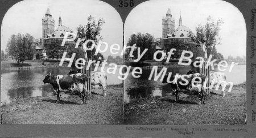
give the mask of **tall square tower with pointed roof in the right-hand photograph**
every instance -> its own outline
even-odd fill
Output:
[[[168,8],[168,11],[166,12],[166,18],[162,20],[163,23],[163,38],[166,38],[167,34],[171,34],[175,31],[175,20],[172,18],[171,9]]]

